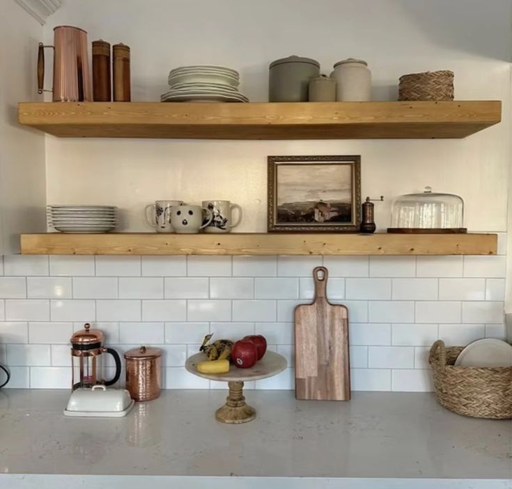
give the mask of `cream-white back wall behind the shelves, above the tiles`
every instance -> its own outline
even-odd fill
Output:
[[[241,90],[267,100],[268,63],[300,54],[323,72],[348,56],[366,59],[374,98],[394,100],[398,77],[449,68],[456,98],[503,100],[511,109],[510,0],[68,0],[45,26],[88,30],[89,41],[132,48],[132,99],[159,100],[179,65],[210,63],[240,71]],[[506,231],[511,121],[448,141],[166,141],[47,137],[49,203],[114,203],[125,229],[144,230],[155,199],[230,199],[242,205],[238,231],[266,230],[267,155],[362,155],[362,195],[394,196],[424,185],[466,202],[472,231]]]

